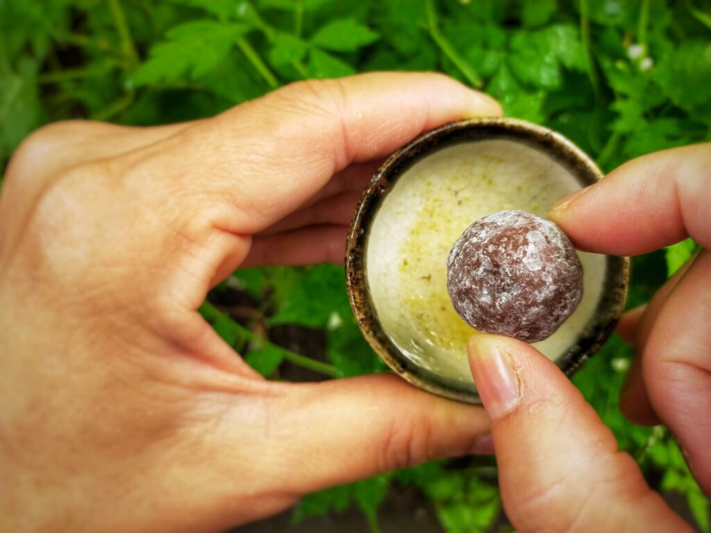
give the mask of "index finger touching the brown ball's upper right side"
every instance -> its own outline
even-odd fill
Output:
[[[636,158],[549,212],[577,247],[636,255],[689,235],[711,247],[711,144]]]

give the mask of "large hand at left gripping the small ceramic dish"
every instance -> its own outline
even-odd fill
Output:
[[[0,530],[217,531],[476,451],[482,409],[392,375],[267,382],[197,309],[240,264],[341,263],[373,161],[500,112],[441,75],[372,74],[33,134],[0,200]]]

